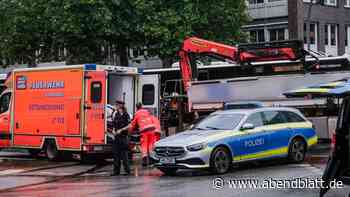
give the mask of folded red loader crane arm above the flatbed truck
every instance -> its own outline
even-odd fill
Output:
[[[196,55],[213,56],[237,63],[275,60],[298,60],[305,57],[301,41],[242,44],[233,47],[197,37],[184,40],[180,56],[180,68],[184,88],[187,91],[192,80],[197,80]]]

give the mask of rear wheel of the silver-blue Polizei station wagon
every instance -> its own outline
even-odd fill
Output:
[[[306,154],[306,144],[304,140],[295,138],[289,146],[289,159],[292,162],[302,162],[304,161]]]

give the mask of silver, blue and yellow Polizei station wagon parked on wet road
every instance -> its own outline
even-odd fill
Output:
[[[296,109],[227,110],[158,141],[151,157],[165,174],[181,168],[210,168],[223,174],[233,162],[275,157],[302,162],[307,149],[316,143],[312,123]]]

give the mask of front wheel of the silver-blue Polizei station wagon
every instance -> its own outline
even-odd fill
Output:
[[[231,167],[231,157],[226,148],[219,147],[214,150],[210,159],[210,167],[216,174],[225,174]]]

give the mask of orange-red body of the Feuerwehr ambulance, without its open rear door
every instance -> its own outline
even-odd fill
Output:
[[[13,71],[0,98],[0,148],[108,154],[107,78],[96,65]]]

